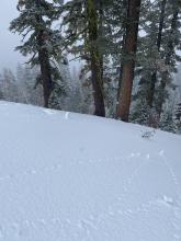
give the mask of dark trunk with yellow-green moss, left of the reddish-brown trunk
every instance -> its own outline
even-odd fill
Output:
[[[94,115],[105,116],[103,81],[102,81],[102,64],[98,47],[98,14],[95,0],[88,0],[88,27],[89,27],[89,51],[91,64],[91,80],[94,97]]]

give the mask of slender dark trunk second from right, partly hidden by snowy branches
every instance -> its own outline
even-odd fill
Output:
[[[160,12],[160,20],[159,20],[159,30],[158,30],[158,36],[157,36],[157,49],[160,51],[161,47],[161,41],[162,41],[162,28],[163,28],[163,23],[165,23],[165,13],[166,13],[166,4],[167,0],[161,1],[161,12]],[[150,82],[150,88],[147,94],[147,104],[151,108],[154,104],[154,94],[155,94],[155,88],[157,83],[157,70],[155,70],[151,74],[151,82]]]

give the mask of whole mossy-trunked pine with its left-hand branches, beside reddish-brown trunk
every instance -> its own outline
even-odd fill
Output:
[[[67,2],[63,11],[66,26],[65,48],[86,60],[84,70],[90,72],[94,97],[94,114],[105,116],[103,91],[103,7],[106,1],[80,0]],[[102,44],[102,43],[101,43]]]

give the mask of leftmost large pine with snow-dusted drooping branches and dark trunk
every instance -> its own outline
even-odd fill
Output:
[[[39,65],[44,93],[44,106],[48,107],[49,96],[54,88],[55,66],[50,64],[60,53],[60,34],[53,30],[57,19],[57,4],[46,0],[21,0],[18,9],[20,15],[10,24],[10,30],[23,36],[23,44],[16,50],[23,55],[32,55],[29,64]],[[26,39],[26,41],[25,41]]]

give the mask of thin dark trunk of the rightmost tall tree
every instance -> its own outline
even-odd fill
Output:
[[[165,103],[165,94],[166,94],[165,90],[166,90],[168,79],[169,79],[169,76],[170,76],[169,66],[171,64],[172,55],[174,55],[173,35],[174,35],[174,31],[177,30],[177,22],[178,22],[178,19],[179,19],[179,9],[177,8],[177,2],[178,1],[174,1],[174,3],[173,3],[173,14],[172,14],[172,20],[171,20],[170,39],[168,42],[168,46],[167,46],[168,53],[167,53],[167,56],[166,56],[166,59],[165,59],[166,71],[162,74],[160,87],[159,87],[159,93],[160,94],[159,94],[159,97],[158,97],[158,107],[157,107],[159,118],[160,118],[160,115],[161,115],[161,112],[162,112],[162,105]]]

